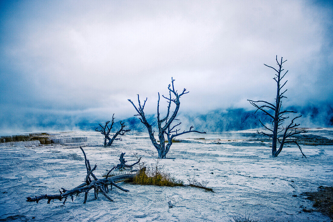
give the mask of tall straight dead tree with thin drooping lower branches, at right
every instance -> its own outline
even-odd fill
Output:
[[[288,70],[282,74],[283,72],[283,68],[282,68],[282,64],[284,62],[286,62],[287,60],[283,61],[282,57],[281,57],[281,61],[277,60],[277,56],[276,56],[276,62],[278,65],[278,68],[275,69],[274,67],[268,66],[266,64],[264,64],[265,66],[272,68],[273,70],[275,70],[276,74],[275,77],[273,78],[275,80],[275,82],[277,83],[277,92],[276,92],[276,98],[275,98],[275,103],[269,103],[263,100],[258,100],[258,101],[253,101],[253,100],[248,100],[254,107],[257,108],[257,110],[255,112],[257,112],[258,110],[261,110],[264,112],[265,115],[268,115],[271,118],[271,123],[272,123],[272,128],[267,127],[265,124],[263,124],[260,121],[261,125],[268,130],[268,133],[265,132],[259,132],[257,131],[257,133],[264,135],[264,136],[268,136],[269,138],[272,138],[273,142],[272,142],[272,157],[277,157],[279,155],[279,153],[282,151],[283,145],[286,142],[287,138],[292,137],[293,135],[296,134],[300,134],[300,133],[305,133],[305,130],[300,130],[297,131],[296,127],[299,126],[300,124],[296,124],[294,123],[294,121],[301,117],[300,116],[296,116],[295,118],[293,118],[290,122],[290,124],[283,126],[283,123],[286,119],[289,118],[289,116],[284,116],[285,114],[289,114],[289,113],[297,113],[297,111],[291,111],[291,110],[283,110],[281,109],[281,105],[282,105],[282,99],[283,98],[287,98],[284,96],[284,93],[287,91],[286,90],[282,90],[282,88],[285,86],[285,84],[287,83],[288,80],[286,80],[285,82],[282,81],[282,79],[284,78],[284,76],[287,74]],[[284,83],[283,83],[284,82]],[[281,84],[283,83],[283,84]],[[282,129],[280,130],[280,126],[282,126]],[[289,141],[290,142],[290,141]],[[296,145],[299,147],[299,149],[302,152],[302,149],[300,148],[300,146],[298,145],[298,143],[296,141],[292,141],[295,142]],[[277,143],[280,144],[279,149],[277,149]],[[302,152],[303,154],[303,152]],[[303,154],[303,156],[305,157],[305,155]],[[302,156],[302,158],[303,158]],[[306,157],[305,157],[306,158]]]

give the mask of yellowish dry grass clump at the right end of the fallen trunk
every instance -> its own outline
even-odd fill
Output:
[[[141,164],[139,166],[143,168],[144,165]],[[151,165],[150,167],[146,166],[146,172],[141,171],[133,179],[134,184],[140,185],[154,185],[154,186],[167,186],[167,187],[175,187],[175,186],[183,186],[183,181],[172,177],[169,173],[164,173],[164,166],[159,166],[159,161],[155,165]]]

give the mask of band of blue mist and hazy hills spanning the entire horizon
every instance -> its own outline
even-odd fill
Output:
[[[304,107],[288,107],[297,110],[302,117],[298,119],[300,127],[333,127],[333,105],[307,105]],[[112,114],[110,114],[112,116]],[[117,117],[117,113],[115,115]],[[179,112],[177,118],[182,122],[181,130],[187,130],[191,125],[196,130],[207,132],[224,132],[233,130],[245,130],[262,128],[259,119],[268,123],[269,118],[258,111],[245,110],[243,108],[217,109],[207,113]],[[22,115],[2,116],[0,123],[0,135],[17,134],[24,132],[52,132],[52,131],[93,131],[99,123],[109,119],[99,117],[98,114],[74,113],[45,113],[26,112]],[[116,119],[119,121],[119,119]],[[156,116],[147,115],[147,120],[156,129]],[[126,125],[134,132],[147,132],[146,127],[137,116],[123,119]],[[114,129],[120,127],[115,123]]]

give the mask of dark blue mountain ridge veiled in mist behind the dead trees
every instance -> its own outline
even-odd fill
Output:
[[[321,107],[287,107],[287,109],[297,110],[298,115],[302,115],[297,120],[300,127],[332,127],[333,126],[333,105]],[[262,128],[259,119],[269,125],[270,119],[263,112],[254,110],[245,110],[242,108],[229,108],[226,110],[212,110],[206,114],[198,113],[179,113],[177,119],[182,122],[180,128],[188,129],[191,125],[196,130],[207,132],[224,132],[245,129]],[[147,115],[150,124],[156,127],[156,116]],[[136,116],[124,119],[126,125],[133,131],[146,132],[146,127]]]

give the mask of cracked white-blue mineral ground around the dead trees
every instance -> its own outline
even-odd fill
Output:
[[[189,187],[156,187],[121,184],[129,193],[114,188],[115,202],[99,195],[84,195],[46,204],[26,202],[27,196],[57,194],[58,189],[82,183],[86,170],[84,150],[90,163],[97,164],[95,175],[119,163],[126,152],[130,163],[134,154],[147,165],[156,164],[157,151],[146,134],[127,135],[123,141],[104,148],[97,132],[52,133],[58,144],[40,146],[17,142],[0,146],[0,219],[7,221],[227,221],[245,212],[261,221],[329,221],[320,213],[299,213],[312,203],[300,195],[319,185],[332,186],[333,146],[302,146],[308,159],[302,159],[296,146],[285,147],[271,158],[269,144],[243,142],[253,131],[229,134],[193,134],[174,143],[167,157],[159,160],[167,172],[187,183],[187,179],[208,180],[215,193]],[[333,131],[312,130],[312,134],[332,137]],[[205,137],[212,140],[189,138]],[[188,138],[188,139],[186,139]],[[217,140],[217,139],[220,140]],[[228,141],[228,138],[232,141]],[[221,144],[216,144],[219,142]],[[211,174],[213,173],[213,174]],[[292,195],[297,195],[293,197]],[[168,208],[171,200],[173,208]],[[34,217],[34,218],[33,218]]]

